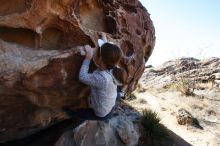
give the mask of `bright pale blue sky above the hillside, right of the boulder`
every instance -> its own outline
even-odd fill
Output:
[[[151,14],[157,38],[147,64],[220,57],[220,0],[140,1]]]

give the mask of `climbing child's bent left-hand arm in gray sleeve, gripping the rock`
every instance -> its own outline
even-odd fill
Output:
[[[103,77],[103,75],[97,72],[91,74],[88,73],[89,64],[93,56],[93,49],[90,46],[86,45],[85,51],[86,51],[86,57],[80,69],[79,80],[89,86],[103,87],[103,85],[105,84],[105,78]]]

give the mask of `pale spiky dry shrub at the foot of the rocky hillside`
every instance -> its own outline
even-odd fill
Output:
[[[195,81],[188,79],[184,76],[180,76],[179,78],[176,78],[174,87],[176,90],[180,91],[185,96],[193,96],[195,89]]]

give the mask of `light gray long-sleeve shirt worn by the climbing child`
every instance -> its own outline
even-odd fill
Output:
[[[82,63],[79,80],[91,87],[90,106],[99,117],[104,117],[112,110],[117,97],[118,81],[109,70],[96,70],[88,73],[90,60]]]

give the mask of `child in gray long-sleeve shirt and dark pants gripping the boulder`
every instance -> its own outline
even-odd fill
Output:
[[[111,42],[107,42],[105,36],[102,38],[98,40],[98,69],[93,73],[88,73],[90,61],[93,58],[93,48],[86,45],[86,55],[79,73],[79,80],[91,88],[90,108],[76,111],[64,108],[64,111],[71,116],[85,120],[105,120],[109,118],[115,106],[117,86],[122,85],[126,80],[126,71],[117,67],[122,58],[121,49]]]

